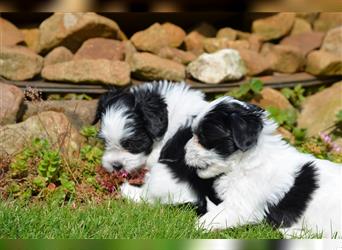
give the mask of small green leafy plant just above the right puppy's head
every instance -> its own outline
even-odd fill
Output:
[[[226,95],[232,96],[242,101],[250,101],[255,96],[260,95],[263,83],[257,78],[252,78],[249,82],[240,85],[239,88],[232,89]]]

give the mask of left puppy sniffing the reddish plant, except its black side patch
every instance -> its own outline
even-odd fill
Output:
[[[172,168],[158,160],[168,142],[162,158],[174,159],[171,148],[177,148],[177,140],[172,140],[173,136],[177,132],[179,136],[181,128],[191,125],[207,105],[203,93],[189,89],[185,83],[146,83],[114,90],[100,98],[97,117],[101,119],[99,136],[105,141],[103,167],[110,172],[131,172],[144,165],[149,169],[142,187],[128,183],[121,186],[124,197],[137,202],[203,203],[189,183],[175,178]],[[190,130],[184,138],[189,134]],[[179,149],[184,151],[185,142]]]

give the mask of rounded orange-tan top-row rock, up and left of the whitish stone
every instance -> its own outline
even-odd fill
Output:
[[[141,51],[158,53],[164,47],[178,47],[185,38],[185,32],[171,23],[155,23],[131,37],[134,46]]]

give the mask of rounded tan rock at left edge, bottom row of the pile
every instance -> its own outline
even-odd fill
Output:
[[[27,80],[39,74],[43,58],[23,46],[1,47],[0,75],[10,80]]]

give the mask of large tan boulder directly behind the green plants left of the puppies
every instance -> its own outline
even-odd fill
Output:
[[[14,155],[29,146],[33,139],[47,139],[67,157],[76,157],[84,138],[58,112],[48,111],[32,116],[24,122],[0,127],[0,155]]]

